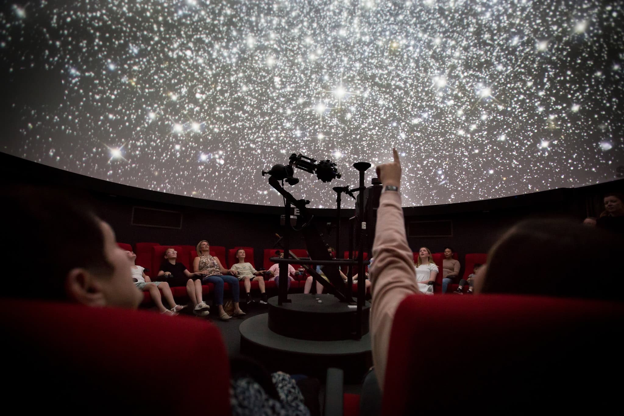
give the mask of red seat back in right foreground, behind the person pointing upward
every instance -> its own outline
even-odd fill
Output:
[[[382,414],[610,413],[622,317],[611,302],[408,296],[392,324]]]

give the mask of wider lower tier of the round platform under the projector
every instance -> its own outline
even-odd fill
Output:
[[[255,358],[271,371],[324,380],[327,369],[337,367],[344,370],[345,382],[359,383],[373,365],[370,334],[359,340],[310,341],[276,334],[268,321],[268,314],[245,319],[239,327],[240,349],[241,354]]]

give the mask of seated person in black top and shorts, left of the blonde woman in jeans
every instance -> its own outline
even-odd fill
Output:
[[[208,316],[210,314],[210,306],[202,299],[202,281],[203,273],[191,273],[187,270],[183,263],[178,263],[178,252],[175,248],[165,250],[165,256],[158,277],[165,279],[169,286],[187,288],[188,297],[193,304],[193,314],[197,316]]]

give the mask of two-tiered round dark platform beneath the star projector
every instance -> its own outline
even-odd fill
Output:
[[[355,308],[328,294],[289,297],[292,302],[282,306],[277,306],[277,297],[271,297],[268,314],[247,318],[240,324],[241,354],[258,360],[271,372],[280,370],[324,380],[328,367],[337,367],[344,370],[346,383],[361,383],[373,365],[368,332],[370,304],[366,302],[363,309],[364,335],[355,339],[351,334]]]

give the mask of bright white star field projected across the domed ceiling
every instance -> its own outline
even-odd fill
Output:
[[[2,151],[260,205],[282,203],[261,169],[293,152],[343,173],[296,171],[315,207],[393,146],[406,206],[613,180],[623,23],[593,0],[9,4]]]

